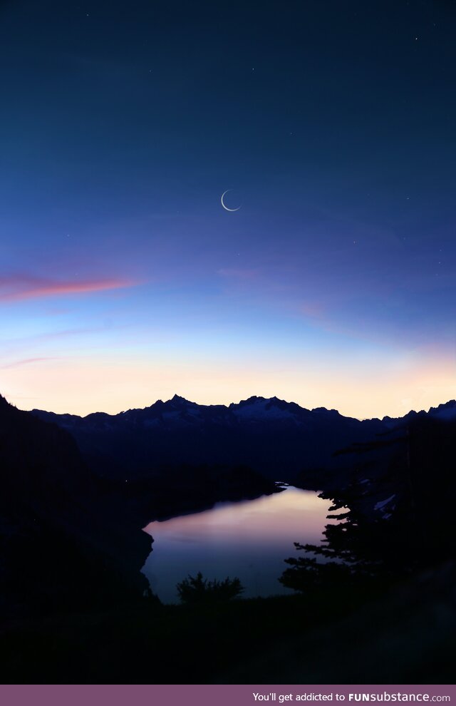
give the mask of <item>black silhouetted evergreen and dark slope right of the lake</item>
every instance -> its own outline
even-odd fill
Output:
[[[353,444],[352,481],[321,493],[332,498],[320,545],[295,543],[279,581],[309,588],[398,580],[455,558],[455,523],[444,498],[456,492],[456,421],[417,415],[395,435]],[[355,472],[356,471],[356,472]],[[392,501],[385,507],[385,498]],[[382,507],[383,506],[383,507]]]

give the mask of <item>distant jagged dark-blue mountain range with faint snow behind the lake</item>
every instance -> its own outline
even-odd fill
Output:
[[[32,414],[68,431],[98,476],[110,479],[147,478],[188,464],[249,466],[269,479],[294,481],[318,469],[351,465],[337,451],[353,443],[391,434],[418,415],[456,418],[456,401],[410,411],[403,417],[353,419],[335,409],[305,409],[271,397],[249,397],[239,404],[202,405],[175,395],[145,409],[88,416]]]

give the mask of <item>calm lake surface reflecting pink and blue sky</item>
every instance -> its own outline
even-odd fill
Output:
[[[286,488],[282,493],[151,522],[154,538],[142,573],[164,603],[176,603],[176,583],[189,573],[204,578],[237,576],[244,597],[293,593],[277,580],[284,559],[299,556],[293,543],[319,543],[331,503],[314,491]]]

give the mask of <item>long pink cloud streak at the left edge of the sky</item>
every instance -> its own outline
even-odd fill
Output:
[[[97,280],[51,280],[48,277],[35,277],[34,275],[7,275],[0,276],[0,301],[87,294],[88,292],[133,287],[135,284],[138,282],[115,277]]]

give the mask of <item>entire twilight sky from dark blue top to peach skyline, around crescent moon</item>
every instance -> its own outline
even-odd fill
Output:
[[[9,401],[456,397],[455,3],[2,2],[0,71]]]

